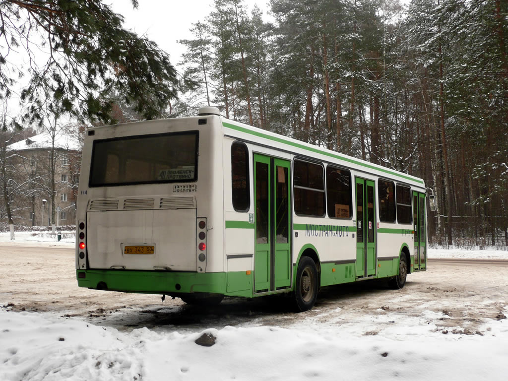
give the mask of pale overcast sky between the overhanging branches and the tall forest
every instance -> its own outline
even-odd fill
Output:
[[[212,12],[212,0],[139,0],[139,7],[133,9],[131,0],[106,0],[113,10],[125,18],[125,29],[132,29],[139,36],[147,35],[163,50],[169,53],[171,63],[176,65],[185,48],[178,40],[191,39],[191,24],[204,21]],[[264,19],[269,10],[269,0],[246,0],[248,11],[257,4],[263,11]]]

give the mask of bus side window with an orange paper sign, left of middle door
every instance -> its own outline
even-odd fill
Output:
[[[326,167],[326,199],[328,216],[351,218],[351,172],[332,166]]]

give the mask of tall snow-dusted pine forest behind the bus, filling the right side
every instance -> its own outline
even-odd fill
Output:
[[[272,23],[242,0],[215,0],[193,24],[181,63],[199,86],[173,114],[216,105],[422,177],[438,200],[431,242],[508,246],[508,2],[270,6]]]

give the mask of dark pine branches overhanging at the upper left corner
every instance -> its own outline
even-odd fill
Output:
[[[40,111],[57,102],[67,113],[108,122],[111,102],[104,96],[112,89],[148,119],[176,98],[168,54],[123,29],[122,16],[102,0],[4,1],[0,20],[0,100],[17,93],[17,78],[8,73],[26,71],[23,121],[42,122]],[[26,68],[17,67],[16,51]]]

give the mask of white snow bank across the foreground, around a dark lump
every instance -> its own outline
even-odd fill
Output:
[[[421,323],[426,326],[424,317]],[[0,310],[0,327],[5,381],[504,380],[508,370],[506,320],[489,322],[483,336],[443,335],[432,326],[416,334],[399,326],[394,338],[323,326],[119,332],[51,314]],[[216,337],[213,346],[195,343],[204,332]]]

